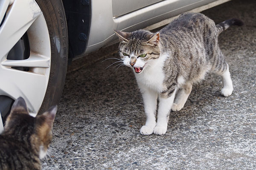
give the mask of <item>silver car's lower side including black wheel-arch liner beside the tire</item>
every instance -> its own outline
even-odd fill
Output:
[[[68,6],[67,2],[73,3],[63,1],[65,8]],[[74,34],[73,36],[69,33],[69,49],[73,53],[72,57],[83,57],[116,40],[114,29],[135,31],[217,1],[224,3],[228,0],[82,0],[81,2],[87,2],[88,6],[86,12],[82,11],[87,23],[81,23],[84,22],[82,15],[79,15],[81,11],[73,12],[76,10],[74,8],[72,13],[76,18],[72,18],[65,9],[69,31]],[[82,29],[79,28],[81,24],[84,25]]]

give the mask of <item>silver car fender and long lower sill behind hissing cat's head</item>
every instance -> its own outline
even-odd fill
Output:
[[[90,35],[84,54],[95,51],[116,39],[113,29],[134,31],[145,28],[161,20],[174,17],[214,1],[215,0],[163,0],[120,17],[113,17],[111,0],[93,0],[91,2],[92,22],[90,25]]]

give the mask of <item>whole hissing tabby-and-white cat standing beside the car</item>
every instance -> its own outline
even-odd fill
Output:
[[[186,13],[155,34],[115,30],[123,64],[133,69],[143,96],[147,119],[141,134],[165,134],[170,110],[183,108],[192,85],[209,71],[221,76],[221,94],[232,94],[229,67],[218,46],[218,35],[231,25],[243,23],[230,19],[215,26],[204,14]]]

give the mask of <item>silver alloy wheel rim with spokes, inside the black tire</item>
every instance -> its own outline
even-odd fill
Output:
[[[0,96],[23,97],[35,116],[44,100],[50,75],[51,46],[44,15],[35,0],[0,2]],[[27,34],[29,57],[8,59],[15,44]],[[17,68],[26,68],[20,70]]]

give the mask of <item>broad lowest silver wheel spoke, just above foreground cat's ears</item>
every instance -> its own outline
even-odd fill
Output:
[[[38,112],[43,101],[43,98],[38,96],[44,96],[47,88],[48,81],[45,75],[1,68],[0,77],[0,95],[10,96],[12,99],[21,96],[26,100],[29,112]]]

